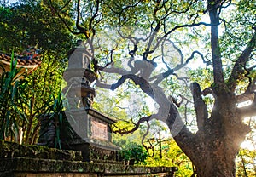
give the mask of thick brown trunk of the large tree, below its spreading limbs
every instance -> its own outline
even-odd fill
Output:
[[[249,132],[236,110],[234,96],[225,93],[216,100],[205,126],[192,134],[184,128],[174,137],[177,145],[195,165],[199,177],[235,177],[236,155]],[[172,129],[173,121],[167,122]]]

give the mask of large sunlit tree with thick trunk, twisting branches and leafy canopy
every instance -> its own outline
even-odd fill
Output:
[[[67,4],[75,7],[74,26],[65,22]],[[250,131],[243,118],[256,114],[255,2],[70,0],[49,1],[48,5],[69,31],[84,34],[94,70],[113,74],[116,78],[112,84],[101,83],[99,78],[96,86],[116,90],[124,84],[135,83],[158,104],[157,113],[139,117],[132,128],[117,132],[133,132],[141,123],[147,123],[149,128],[150,121],[158,119],[166,123],[177,145],[193,162],[195,174],[235,176],[235,158]],[[108,49],[109,45],[99,45],[102,36],[93,40],[106,28],[116,29],[114,35],[105,33],[112,40],[116,37],[112,49]],[[139,30],[132,30],[134,28]],[[102,53],[97,53],[97,49]],[[141,60],[136,60],[138,56]],[[201,71],[208,71],[208,78],[205,78],[208,83],[199,79],[196,82],[197,78],[189,80],[193,81],[190,88],[196,132],[183,123],[178,111],[183,100],[189,102],[187,95],[183,95],[185,86],[176,87],[182,89],[179,92],[181,101],[175,99],[177,95],[170,95],[174,92],[162,88],[164,83],[172,83],[173,77],[181,79],[179,71],[192,65],[194,59],[202,60],[207,66]],[[125,62],[127,66],[121,67]],[[157,64],[161,66],[159,73],[154,72]],[[188,78],[183,79],[188,82]],[[251,104],[238,106],[246,100]]]

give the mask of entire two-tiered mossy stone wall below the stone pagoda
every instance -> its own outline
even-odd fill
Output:
[[[171,167],[139,167],[108,161],[83,162],[82,159],[79,151],[21,146],[0,140],[1,177],[171,177],[174,173]]]

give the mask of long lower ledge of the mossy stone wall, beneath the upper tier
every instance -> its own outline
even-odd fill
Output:
[[[129,166],[113,163],[53,160],[28,157],[0,159],[0,172],[158,174],[172,172],[172,167]]]

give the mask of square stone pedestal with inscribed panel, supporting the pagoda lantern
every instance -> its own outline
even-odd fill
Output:
[[[87,114],[84,114],[84,110],[80,109],[71,112],[72,115],[66,113],[67,117],[79,117],[79,122],[82,123],[70,123],[75,134],[73,139],[66,141],[63,149],[82,151],[84,161],[87,162],[116,161],[120,148],[112,143],[110,124],[114,123],[113,119],[92,108],[87,108],[86,112]]]

